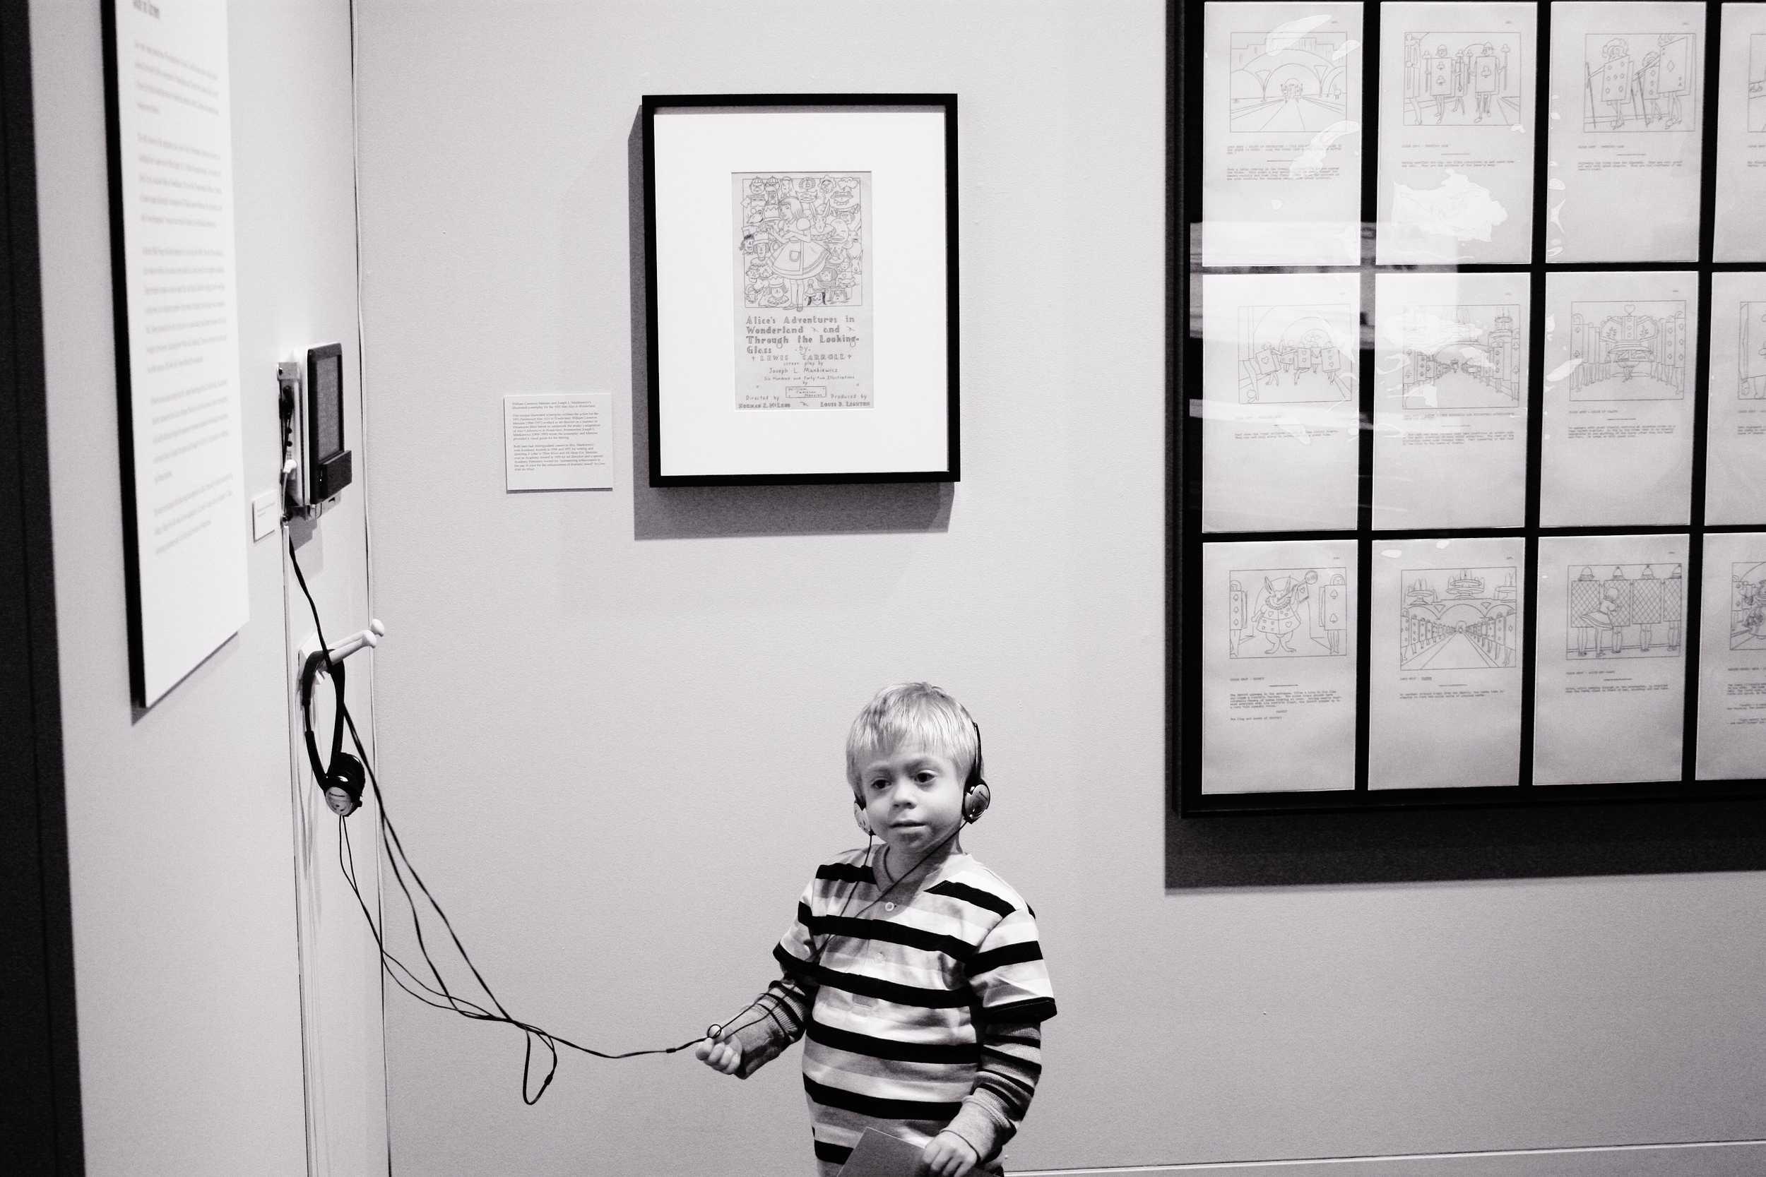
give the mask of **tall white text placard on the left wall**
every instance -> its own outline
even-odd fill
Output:
[[[129,679],[148,708],[249,614],[226,4],[108,0],[104,65]]]

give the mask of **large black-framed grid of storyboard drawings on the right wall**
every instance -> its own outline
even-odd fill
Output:
[[[1180,12],[1180,812],[1766,796],[1766,4]]]

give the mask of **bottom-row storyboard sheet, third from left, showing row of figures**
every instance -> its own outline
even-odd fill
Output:
[[[1533,783],[1679,776],[1687,536],[1540,536]]]

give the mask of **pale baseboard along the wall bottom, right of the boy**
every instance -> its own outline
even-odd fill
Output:
[[[1012,1177],[1759,1177],[1766,1140],[1637,1143],[1588,1149],[1413,1152],[1305,1161],[1210,1161],[1118,1168],[1007,1168]]]

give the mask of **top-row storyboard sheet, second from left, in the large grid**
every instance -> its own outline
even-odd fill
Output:
[[[1379,12],[1379,265],[1526,263],[1533,4]]]

